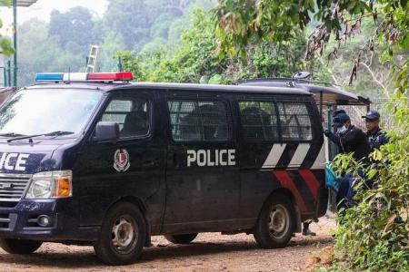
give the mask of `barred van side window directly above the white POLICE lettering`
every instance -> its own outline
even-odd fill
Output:
[[[180,100],[168,102],[175,141],[226,141],[229,126],[224,102]]]

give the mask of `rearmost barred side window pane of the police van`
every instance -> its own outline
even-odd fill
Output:
[[[305,103],[279,102],[277,105],[284,141],[313,139],[311,118]]]

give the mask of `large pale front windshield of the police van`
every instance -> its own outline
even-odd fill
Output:
[[[25,90],[0,108],[0,136],[41,135],[85,128],[103,93],[87,90]],[[50,134],[51,135],[51,134]],[[58,136],[55,134],[54,136]]]

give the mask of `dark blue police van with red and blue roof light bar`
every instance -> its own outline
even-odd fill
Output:
[[[41,73],[0,108],[0,247],[93,245],[135,262],[151,237],[253,234],[282,248],[324,215],[311,92]]]

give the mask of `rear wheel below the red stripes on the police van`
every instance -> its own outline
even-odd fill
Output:
[[[263,206],[254,227],[254,238],[260,248],[284,248],[295,229],[294,205],[282,195],[273,195]]]

